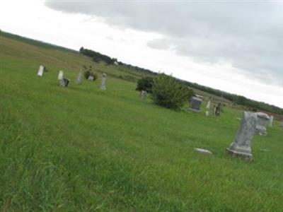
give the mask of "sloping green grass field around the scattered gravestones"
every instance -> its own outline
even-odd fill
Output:
[[[100,72],[74,83],[83,64],[110,75],[107,90]],[[59,69],[68,88],[57,86]],[[0,36],[0,211],[282,211],[277,122],[255,136],[252,163],[231,158],[240,110],[167,110],[139,100],[117,69]]]

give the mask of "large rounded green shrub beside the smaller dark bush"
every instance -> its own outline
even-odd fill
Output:
[[[157,105],[179,109],[189,100],[190,95],[190,89],[173,76],[161,73],[154,78],[152,97]]]

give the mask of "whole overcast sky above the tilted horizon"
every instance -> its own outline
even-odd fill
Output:
[[[10,0],[0,29],[283,107],[282,11],[283,1]]]

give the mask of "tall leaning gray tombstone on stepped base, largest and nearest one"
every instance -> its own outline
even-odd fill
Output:
[[[227,153],[251,160],[250,144],[255,134],[255,125],[257,122],[257,114],[253,112],[243,112],[236,139],[231,143],[229,148],[226,148]]]

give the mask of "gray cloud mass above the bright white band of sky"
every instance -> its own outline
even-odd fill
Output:
[[[98,16],[108,25],[161,33],[148,46],[217,63],[231,61],[267,83],[283,83],[280,2],[47,1],[57,11]]]

